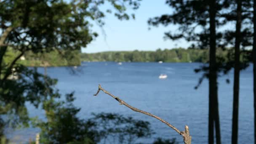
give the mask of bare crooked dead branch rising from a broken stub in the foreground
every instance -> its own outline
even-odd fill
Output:
[[[189,127],[187,125],[185,125],[185,131],[179,131],[177,128],[175,128],[173,125],[171,125],[170,123],[166,122],[165,120],[163,120],[160,117],[157,117],[156,115],[152,115],[149,112],[145,112],[143,110],[137,109],[135,107],[132,107],[131,105],[127,104],[125,101],[123,101],[122,99],[119,99],[117,96],[112,95],[111,93],[109,93],[108,91],[104,90],[104,88],[101,87],[101,85],[99,85],[99,89],[97,91],[96,94],[94,94],[93,96],[97,96],[99,94],[100,91],[103,91],[104,93],[108,94],[109,96],[112,96],[112,98],[114,98],[115,100],[117,100],[121,105],[125,105],[126,107],[130,108],[131,110],[133,110],[134,112],[140,112],[143,113],[145,115],[149,115],[151,117],[155,117],[157,120],[160,120],[161,122],[165,123],[166,125],[168,125],[169,127],[171,127],[174,131],[176,131],[177,133],[179,133],[182,137],[183,137],[183,141],[184,144],[191,144],[191,136],[189,135]]]

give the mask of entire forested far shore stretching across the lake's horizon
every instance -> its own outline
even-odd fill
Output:
[[[233,49],[223,51],[219,48],[216,55],[225,62],[231,60]],[[241,61],[248,57],[251,50],[241,52]],[[9,48],[8,57],[4,61],[8,63],[19,52]],[[13,57],[13,58],[12,58]],[[247,58],[246,58],[247,59]],[[209,60],[209,51],[205,49],[157,49],[156,51],[106,51],[99,53],[80,53],[80,51],[51,51],[50,53],[32,53],[28,51],[19,59],[18,63],[27,67],[67,67],[78,66],[81,61],[116,61],[116,62],[203,62]]]

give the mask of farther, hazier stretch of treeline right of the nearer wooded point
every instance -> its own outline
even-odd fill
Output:
[[[225,56],[221,49],[217,55]],[[207,62],[209,51],[202,49],[157,49],[156,51],[107,51],[100,53],[81,53],[81,61],[131,61],[131,62]]]

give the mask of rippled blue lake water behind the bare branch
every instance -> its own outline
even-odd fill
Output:
[[[77,69],[80,72],[73,75],[65,67],[48,68],[48,75],[59,79],[57,88],[61,93],[75,91],[75,106],[81,107],[79,116],[87,119],[91,113],[114,112],[136,119],[147,120],[151,123],[155,135],[150,139],[141,140],[150,143],[157,137],[165,139],[176,138],[182,143],[181,136],[147,115],[133,112],[131,109],[119,105],[115,99],[100,92],[98,84],[120,97],[128,104],[138,109],[150,112],[183,131],[189,125],[193,144],[208,142],[208,80],[195,90],[198,78],[193,69],[200,63],[123,63],[115,62],[83,62]],[[43,68],[39,68],[43,72]],[[239,101],[239,138],[240,144],[252,144],[253,140],[253,74],[252,66],[241,72],[240,101]],[[160,74],[168,78],[159,79]],[[226,79],[230,78],[230,84]],[[219,115],[221,123],[221,141],[231,143],[232,131],[232,84],[233,72],[219,77]],[[29,107],[31,116],[43,117],[40,110]],[[9,136],[16,135],[16,139],[34,138],[37,129],[26,129],[9,132]]]

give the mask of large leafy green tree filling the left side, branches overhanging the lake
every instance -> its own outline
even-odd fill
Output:
[[[79,65],[80,48],[97,37],[90,29],[91,21],[104,25],[105,15],[99,7],[109,3],[118,19],[129,19],[134,14],[128,15],[126,6],[137,9],[139,1],[0,1],[0,130],[8,122],[15,127],[28,126],[26,102],[38,107],[44,101],[59,97],[53,89],[56,80],[24,66]],[[54,57],[56,53],[60,57]],[[27,55],[31,56],[29,61],[19,61]],[[63,63],[52,63],[56,59]],[[75,113],[75,109],[72,112]],[[3,116],[11,118],[3,120]],[[2,134],[0,131],[0,136]]]

